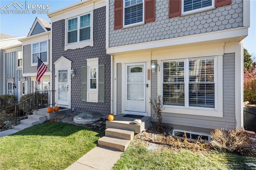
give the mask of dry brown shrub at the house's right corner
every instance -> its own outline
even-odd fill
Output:
[[[250,148],[252,139],[241,128],[238,130],[215,129],[210,132],[210,146],[215,150],[237,153],[241,155],[255,155],[255,150]]]

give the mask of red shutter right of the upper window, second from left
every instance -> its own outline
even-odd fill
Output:
[[[144,10],[145,10],[145,23],[155,21],[155,0],[145,0]]]

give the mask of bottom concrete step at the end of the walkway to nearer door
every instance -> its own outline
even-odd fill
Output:
[[[120,151],[124,152],[126,150],[126,148],[128,147],[130,142],[131,142],[131,140],[104,136],[104,137],[102,137],[98,140],[98,145],[108,147],[108,148],[112,148],[112,149],[115,149],[115,150],[120,150]]]

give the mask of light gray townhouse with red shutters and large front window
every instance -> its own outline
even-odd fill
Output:
[[[243,127],[250,1],[110,0],[106,14],[114,115],[156,121],[149,101],[161,95],[175,134]]]

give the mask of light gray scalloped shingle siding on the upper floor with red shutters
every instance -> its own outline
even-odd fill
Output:
[[[109,47],[165,40],[243,26],[243,1],[194,14],[168,18],[168,0],[156,0],[154,22],[114,30],[114,0],[109,1]]]

